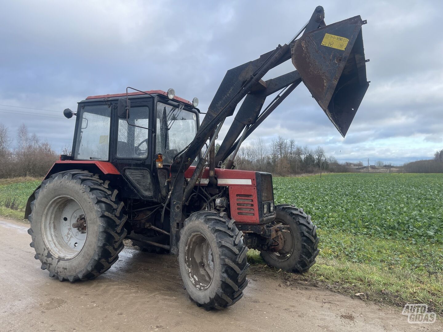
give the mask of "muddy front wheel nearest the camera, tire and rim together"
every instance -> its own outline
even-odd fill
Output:
[[[205,309],[224,309],[248,285],[248,248],[225,212],[195,212],[180,232],[179,266],[192,300]]]

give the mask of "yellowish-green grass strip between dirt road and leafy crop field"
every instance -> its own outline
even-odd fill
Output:
[[[339,235],[337,241],[334,241],[335,235]],[[352,235],[325,231],[320,231],[319,236],[320,254],[317,262],[306,273],[292,274],[268,267],[256,250],[248,251],[248,262],[252,264],[253,271],[265,271],[286,280],[314,282],[316,286],[377,303],[398,306],[424,303],[432,311],[443,314],[442,274],[434,273],[428,261],[417,266],[420,257],[415,255],[420,250],[419,246],[389,239],[356,239]],[[347,251],[330,247],[330,243],[337,242],[357,243],[358,251],[366,255],[355,258],[352,247],[347,247]],[[401,254],[395,250],[386,252],[396,247],[400,248],[398,250]],[[438,250],[442,250],[441,246]],[[382,254],[401,257],[394,261],[385,260]]]

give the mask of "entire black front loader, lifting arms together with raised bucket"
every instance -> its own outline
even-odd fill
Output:
[[[171,252],[177,250],[174,239],[179,238],[182,206],[187,204],[208,156],[210,183],[214,185],[217,181],[214,175],[215,164],[219,165],[233,151],[231,158],[235,158],[241,142],[300,82],[303,81],[307,86],[338,131],[343,136],[346,135],[369,86],[365,67],[365,62],[369,60],[365,60],[361,37],[361,25],[365,23],[360,16],[355,16],[325,25],[323,7],[318,6],[311,19],[288,44],[278,45],[275,50],[261,55],[260,58],[227,71],[195,138],[177,154],[171,165],[173,180],[168,197],[171,203]],[[303,35],[297,39],[302,32]],[[292,59],[297,70],[268,81],[262,80],[270,69],[289,59]],[[265,98],[281,89],[284,91],[262,111]],[[214,141],[221,125],[226,117],[233,115],[237,104],[245,96],[228,135],[214,156]],[[183,189],[184,172],[200,154],[208,139],[208,153],[199,159],[194,174]],[[232,164],[229,161],[228,166]]]

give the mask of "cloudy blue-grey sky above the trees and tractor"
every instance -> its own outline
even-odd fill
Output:
[[[431,158],[443,148],[443,2],[319,4],[326,24],[355,15],[368,20],[363,40],[371,84],[346,139],[303,85],[250,139],[282,135],[321,145],[339,160]],[[75,110],[89,95],[172,87],[180,97],[198,97],[205,112],[226,70],[288,42],[315,7],[294,0],[4,2],[0,123],[12,135],[24,123],[61,151],[72,144],[74,128],[62,110]],[[264,78],[293,68],[287,62]]]

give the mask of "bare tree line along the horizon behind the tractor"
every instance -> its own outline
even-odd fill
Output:
[[[58,159],[58,153],[46,140],[30,133],[22,124],[16,132],[16,147],[12,147],[12,133],[0,124],[0,178],[42,177]],[[216,151],[220,144],[216,144]],[[70,154],[65,148],[62,154]],[[377,166],[385,166],[376,162]],[[240,147],[235,158],[240,170],[257,170],[279,176],[297,174],[318,174],[321,172],[350,172],[350,166],[363,166],[363,163],[339,163],[333,156],[327,156],[323,147],[311,149],[301,146],[294,139],[278,136],[270,142],[259,137]],[[355,171],[355,170],[354,170]],[[443,173],[443,149],[436,151],[434,159],[419,160],[404,165],[410,173]]]

